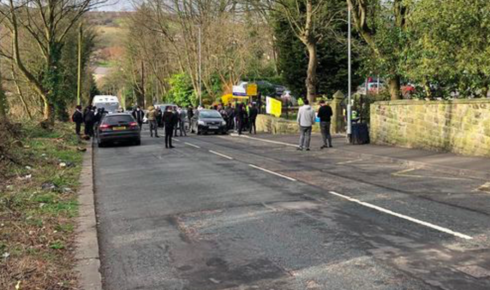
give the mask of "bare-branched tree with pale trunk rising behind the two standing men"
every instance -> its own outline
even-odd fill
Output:
[[[308,66],[305,85],[307,98],[313,102],[317,88],[318,43],[335,32],[345,8],[335,0],[271,0],[267,7],[275,11],[275,17],[283,17],[289,23],[294,35],[306,47]]]

